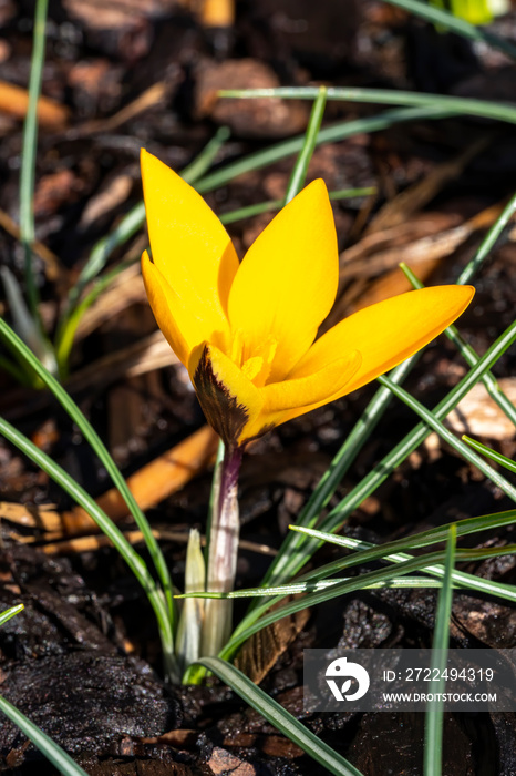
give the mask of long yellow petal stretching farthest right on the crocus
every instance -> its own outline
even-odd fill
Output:
[[[350,394],[432,341],[458,318],[474,293],[472,286],[434,286],[365,307],[318,339],[290,377],[306,377],[357,348],[362,364],[345,387]]]

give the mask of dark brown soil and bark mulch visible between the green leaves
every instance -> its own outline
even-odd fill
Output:
[[[27,86],[33,3],[0,1],[0,81]],[[516,38],[516,14],[499,22]],[[231,135],[216,160],[219,167],[254,150],[301,133],[305,103],[272,106],[264,101],[215,99],[230,85],[333,85],[401,88],[516,101],[515,68],[502,54],[454,35],[436,32],[403,12],[376,2],[319,0],[241,0],[235,25],[206,30],[175,0],[55,0],[50,3],[43,93],[68,114],[61,126],[41,126],[38,152],[37,237],[63,264],[49,278],[39,266],[43,315],[49,330],[66,286],[73,285],[95,241],[106,234],[141,198],[138,153],[142,145],[176,170],[188,164],[219,125]],[[151,105],[111,122],[118,111],[155,84]],[[331,103],[328,121],[379,112],[376,106]],[[0,211],[18,223],[21,123],[0,111]],[[442,178],[411,213],[416,236],[423,216],[433,234],[464,223],[514,192],[516,140],[513,127],[475,119],[400,124],[317,150],[309,178],[322,175],[330,190],[375,185],[374,201],[334,205],[341,249],[360,243],[364,228],[386,202],[456,162],[478,144],[467,163]],[[476,146],[475,146],[476,147]],[[281,197],[292,160],[247,173],[207,196],[219,213]],[[440,173],[441,174],[441,173]],[[369,210],[368,210],[369,208]],[[270,215],[235,223],[235,243],[245,248]],[[429,233],[427,226],[425,226]],[[425,234],[426,234],[425,233]],[[452,283],[479,244],[472,232],[425,276]],[[390,245],[410,245],[401,232]],[[136,235],[115,252],[114,264],[145,247]],[[22,251],[0,228],[0,262],[23,283]],[[363,257],[363,262],[365,258]],[[361,265],[363,266],[363,265]],[[478,353],[512,323],[516,309],[514,231],[475,278],[474,308],[461,331]],[[347,308],[376,293],[390,266],[373,277],[350,276],[343,288]],[[405,290],[392,279],[390,294]],[[389,295],[390,295],[389,294]],[[6,306],[10,319],[9,308]],[[2,310],[3,313],[3,310]],[[155,330],[142,297],[78,340],[71,361],[70,390],[106,441],[125,474],[138,470],[204,420],[183,372],[174,366],[137,376],[93,368],[93,378],[76,380],[96,359],[111,357]],[[513,375],[514,351],[495,371]],[[464,374],[455,348],[444,338],[433,344],[406,382],[427,406],[441,399]],[[75,387],[74,387],[75,385]],[[70,471],[92,496],[110,482],[81,435],[44,391],[20,388],[0,375],[0,412]],[[242,539],[279,547],[318,479],[337,452],[374,387],[301,417],[260,440],[245,457],[240,480]],[[474,422],[469,418],[468,422]],[[414,426],[403,405],[391,405],[364,446],[332,503],[360,480],[402,435]],[[515,452],[514,435],[484,435],[505,455]],[[205,528],[210,471],[204,468],[182,490],[154,509],[161,530],[185,533]],[[0,499],[35,508],[72,504],[30,462],[0,442]],[[445,445],[423,446],[374,497],[357,510],[344,530],[369,541],[386,541],[466,517],[498,512],[512,502]],[[213,681],[207,687],[164,683],[152,611],[136,581],[109,547],[45,552],[49,538],[37,525],[2,520],[0,611],[24,603],[22,614],[0,630],[0,690],[41,726],[92,776],[217,774],[282,776],[326,772],[297,746]],[[17,538],[13,534],[17,533]],[[492,543],[515,541],[507,528],[486,537]],[[174,581],[182,586],[184,543],[164,540]],[[144,552],[138,545],[138,551]],[[313,563],[338,557],[323,549]],[[259,583],[270,557],[245,549],[238,586]],[[513,557],[471,564],[468,571],[515,583]],[[245,610],[236,607],[236,616]],[[307,612],[291,630],[265,632],[239,665],[307,726],[348,757],[364,776],[422,773],[423,715],[312,714],[302,709],[302,650],[312,646],[411,646],[432,643],[435,595],[427,591],[369,592],[339,599]],[[288,626],[287,626],[288,627]],[[516,615],[509,605],[471,594],[454,598],[453,645],[516,646]],[[264,655],[266,657],[264,657]],[[444,737],[446,776],[514,776],[516,723],[512,714],[447,715]],[[0,769],[19,776],[53,774],[18,728],[0,724]]]

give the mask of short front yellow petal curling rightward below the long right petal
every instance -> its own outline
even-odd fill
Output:
[[[260,436],[274,426],[285,423],[339,398],[345,392],[347,385],[360,368],[361,361],[361,354],[351,350],[309,377],[274,382],[260,388],[262,410],[254,423],[249,422],[246,426],[242,436],[246,439]]]

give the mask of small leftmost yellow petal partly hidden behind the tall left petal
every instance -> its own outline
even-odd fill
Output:
[[[213,331],[204,318],[197,317],[195,310],[184,304],[156,265],[151,262],[146,251],[142,255],[142,275],[156,323],[185,366],[188,366],[193,348],[206,338],[209,337],[214,344],[224,346],[226,331]]]

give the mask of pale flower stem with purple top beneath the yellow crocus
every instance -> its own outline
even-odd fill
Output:
[[[241,447],[226,446],[220,469],[220,484],[211,517],[209,533],[208,573],[206,590],[228,593],[235,584],[238,554],[238,472],[242,457]],[[231,633],[233,602],[208,599],[200,654],[216,655]]]

